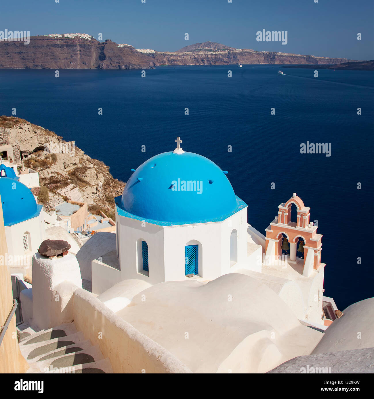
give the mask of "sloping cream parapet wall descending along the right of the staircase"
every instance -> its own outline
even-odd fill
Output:
[[[74,324],[98,345],[115,373],[191,373],[173,354],[114,314],[84,289],[73,295]]]

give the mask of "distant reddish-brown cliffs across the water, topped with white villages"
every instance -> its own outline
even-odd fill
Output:
[[[0,42],[0,68],[143,69],[157,65],[338,64],[346,58],[315,57],[271,51],[235,49],[207,41],[176,52],[135,49],[111,40],[99,42],[88,34],[32,36],[30,43]]]

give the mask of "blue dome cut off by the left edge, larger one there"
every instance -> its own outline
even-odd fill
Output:
[[[36,203],[29,188],[12,178],[0,177],[0,196],[5,226],[32,219],[43,207]]]

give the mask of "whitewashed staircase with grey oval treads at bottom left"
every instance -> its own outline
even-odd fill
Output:
[[[109,359],[73,323],[41,331],[22,324],[18,330],[27,373],[113,373]]]

